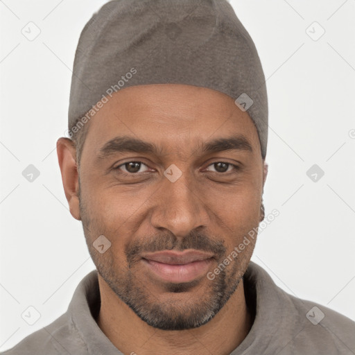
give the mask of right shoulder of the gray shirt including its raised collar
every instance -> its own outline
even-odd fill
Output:
[[[246,290],[256,302],[250,338],[263,354],[355,354],[355,322],[326,306],[302,300],[277,286],[268,272],[250,261]]]

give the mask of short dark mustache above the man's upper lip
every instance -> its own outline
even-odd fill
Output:
[[[143,252],[159,252],[162,250],[177,250],[182,252],[187,249],[211,252],[215,254],[216,259],[223,257],[227,250],[223,239],[211,239],[205,234],[191,231],[183,238],[177,237],[172,233],[166,233],[134,241],[126,246],[125,255],[128,261],[135,261]]]

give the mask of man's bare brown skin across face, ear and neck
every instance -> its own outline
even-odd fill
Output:
[[[250,116],[204,87],[140,85],[114,94],[87,125],[80,171],[70,139],[58,139],[57,152],[71,215],[98,269],[98,326],[124,354],[230,354],[252,327],[243,274],[255,240],[213,280],[180,284],[157,278],[141,253],[213,252],[213,271],[259,225],[268,166]],[[159,150],[98,157],[123,135]],[[240,135],[252,151],[200,148]],[[164,175],[171,164],[182,173],[175,182]],[[111,243],[102,254],[93,245],[101,235]]]

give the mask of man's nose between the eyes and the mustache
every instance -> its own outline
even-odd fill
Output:
[[[165,179],[157,190],[156,203],[150,222],[157,229],[165,228],[175,236],[186,236],[197,227],[205,227],[209,221],[207,206],[198,184],[182,173],[175,182]]]

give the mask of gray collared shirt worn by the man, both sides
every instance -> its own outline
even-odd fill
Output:
[[[355,322],[349,318],[289,295],[252,261],[244,283],[255,319],[248,336],[230,355],[355,354]],[[96,324],[100,302],[93,270],[78,284],[66,313],[1,354],[122,355]]]

